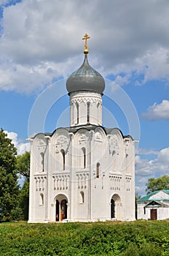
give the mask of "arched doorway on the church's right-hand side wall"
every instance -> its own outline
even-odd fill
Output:
[[[122,211],[122,203],[119,195],[114,194],[111,197],[111,219],[120,219],[121,218],[121,213]]]

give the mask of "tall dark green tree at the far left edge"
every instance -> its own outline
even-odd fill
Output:
[[[3,129],[0,130],[0,210],[8,216],[17,206],[19,186],[17,185],[16,166],[17,149],[12,140],[7,138]]]

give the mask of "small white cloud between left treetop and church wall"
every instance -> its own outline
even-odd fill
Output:
[[[30,151],[30,144],[18,140],[16,132],[4,132],[7,133],[7,137],[12,140],[12,143],[14,143],[14,146],[17,148],[17,154],[24,154],[25,151]]]

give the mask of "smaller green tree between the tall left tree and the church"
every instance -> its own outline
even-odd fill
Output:
[[[29,180],[30,176],[30,152],[17,156],[17,173]]]

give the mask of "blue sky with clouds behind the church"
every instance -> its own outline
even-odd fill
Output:
[[[139,140],[136,194],[168,174],[168,17],[168,0],[0,0],[0,127],[18,154],[32,134],[69,126],[65,83],[87,32],[88,60],[106,80],[103,126]]]

